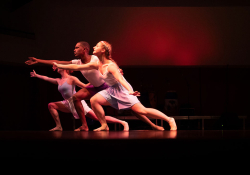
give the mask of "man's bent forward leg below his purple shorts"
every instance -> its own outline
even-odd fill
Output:
[[[86,118],[85,118],[85,115],[84,115],[84,109],[83,109],[81,100],[87,100],[87,99],[90,99],[90,97],[91,97],[91,95],[90,95],[89,91],[86,88],[80,89],[72,97],[76,112],[77,112],[77,114],[78,114],[78,116],[79,116],[79,118],[80,118],[80,120],[82,122],[82,126],[79,127],[78,129],[76,129],[75,131],[77,131],[77,130],[88,131],[89,130],[87,122],[86,122]]]

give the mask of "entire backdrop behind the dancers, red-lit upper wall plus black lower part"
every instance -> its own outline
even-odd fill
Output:
[[[24,61],[74,59],[81,40],[91,47],[109,41],[126,79],[143,94],[154,92],[159,110],[167,91],[176,91],[179,107],[194,108],[194,115],[249,115],[248,3],[2,1],[0,129],[54,126],[47,104],[62,97],[55,85],[30,78],[29,72],[59,75]],[[85,81],[79,72],[74,75]],[[148,105],[145,96],[141,100]],[[72,124],[70,115],[60,116],[64,126]]]

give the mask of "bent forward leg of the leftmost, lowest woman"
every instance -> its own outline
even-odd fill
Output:
[[[61,102],[52,102],[48,104],[48,108],[49,108],[49,112],[52,115],[55,123],[56,123],[56,127],[49,130],[49,131],[62,131],[62,125],[59,119],[59,114],[57,112],[57,110],[62,111],[62,112],[66,112],[66,113],[70,113],[70,110],[68,108],[66,108]]]

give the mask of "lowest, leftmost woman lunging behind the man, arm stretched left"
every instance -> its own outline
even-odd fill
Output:
[[[52,103],[48,104],[49,111],[50,111],[50,113],[51,113],[51,115],[56,123],[56,127],[51,129],[50,131],[62,131],[63,130],[57,110],[62,111],[62,112],[66,112],[66,113],[71,112],[76,119],[79,119],[79,116],[77,115],[77,112],[76,112],[75,107],[74,107],[74,103],[72,101],[72,95],[74,93],[76,93],[75,85],[77,85],[81,88],[87,86],[86,84],[80,82],[80,80],[78,78],[71,76],[69,74],[68,70],[57,69],[57,72],[59,74],[61,74],[61,78],[50,78],[50,77],[46,77],[43,75],[39,75],[34,70],[33,70],[33,72],[30,73],[31,77],[37,77],[37,78],[40,78],[42,80],[48,81],[50,83],[58,84],[58,91],[62,94],[62,96],[64,98],[63,101],[52,102]],[[87,117],[89,117],[93,120],[98,120],[98,118],[96,117],[93,110],[91,108],[89,108],[89,106],[87,105],[87,103],[84,100],[81,101],[81,104],[84,108],[84,114]],[[110,117],[110,116],[105,116],[105,118],[109,123],[122,124],[124,127],[124,131],[129,130],[129,126],[128,126],[127,122],[122,121],[122,120],[118,120],[118,119]],[[75,131],[78,131],[78,130],[75,130]]]

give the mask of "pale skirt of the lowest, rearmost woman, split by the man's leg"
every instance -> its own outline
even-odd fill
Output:
[[[82,100],[81,102],[82,102],[82,106],[83,106],[83,109],[84,109],[84,115],[86,115],[92,109],[87,105],[85,100]],[[63,100],[63,101],[61,101],[61,103],[71,111],[71,113],[73,114],[75,119],[79,119],[79,116],[78,116],[78,114],[76,112],[76,109],[75,109],[72,98],[69,98],[67,100]]]

